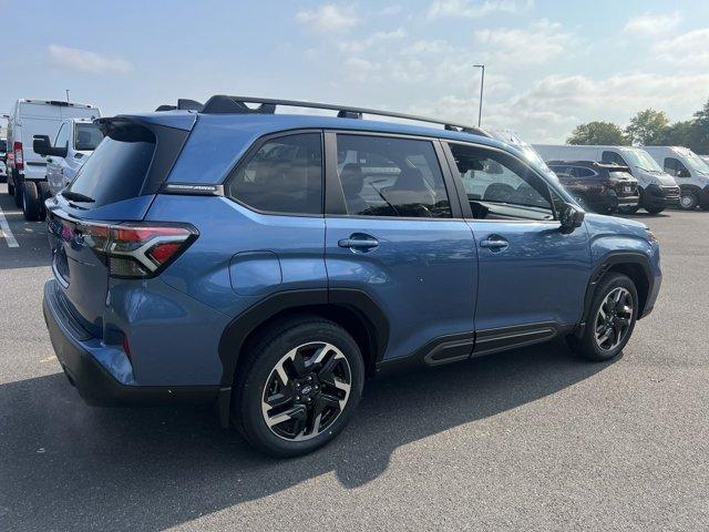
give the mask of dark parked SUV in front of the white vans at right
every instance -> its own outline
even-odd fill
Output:
[[[619,208],[638,206],[638,181],[627,166],[595,161],[548,161],[547,164],[584,208],[614,214]]]

